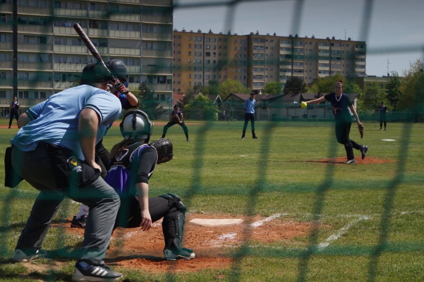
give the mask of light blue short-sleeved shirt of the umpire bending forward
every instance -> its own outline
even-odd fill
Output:
[[[31,121],[19,129],[10,144],[21,151],[33,151],[39,142],[69,148],[84,160],[78,134],[78,121],[83,108],[91,108],[100,118],[96,143],[106,134],[121,113],[119,99],[105,90],[80,85],[50,96],[29,108]]]

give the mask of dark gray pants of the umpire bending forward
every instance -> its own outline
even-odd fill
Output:
[[[69,197],[90,207],[80,259],[96,265],[101,264],[120,204],[119,196],[113,188],[99,177],[86,187],[59,190],[47,148],[40,146],[30,152],[22,152],[14,147],[12,165],[23,179],[40,190],[16,248],[41,248],[62,200]]]

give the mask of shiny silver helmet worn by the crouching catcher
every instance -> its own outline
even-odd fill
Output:
[[[144,111],[132,110],[125,114],[119,128],[123,138],[146,139],[148,143],[153,133],[153,122]]]

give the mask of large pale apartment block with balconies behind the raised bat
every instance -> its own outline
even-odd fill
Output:
[[[141,82],[172,97],[172,0],[1,0],[0,107],[23,107],[78,84],[94,61],[73,28],[80,23],[103,60],[122,60],[129,88]]]

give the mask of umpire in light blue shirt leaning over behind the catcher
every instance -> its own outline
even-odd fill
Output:
[[[62,200],[90,207],[73,281],[116,280],[122,275],[104,264],[120,200],[100,177],[95,146],[120,115],[118,99],[106,91],[113,79],[100,64],[88,64],[82,84],[50,96],[23,113],[10,141],[12,165],[40,190],[18,239],[13,260],[46,255],[41,249]]]

